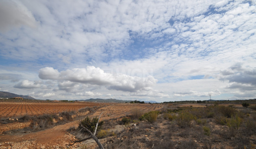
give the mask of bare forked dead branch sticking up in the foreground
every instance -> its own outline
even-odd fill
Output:
[[[103,112],[102,112],[102,113],[103,113]],[[100,114],[100,116],[102,115],[102,113]],[[74,145],[75,143],[82,142],[82,141],[85,141],[85,140],[88,140],[88,139],[91,139],[91,138],[92,138],[92,139],[98,144],[98,146],[100,147],[100,149],[104,149],[104,147],[102,146],[102,144],[100,143],[100,141],[98,140],[98,138],[95,136],[96,130],[97,130],[97,127],[98,127],[98,124],[99,124],[99,121],[100,121],[100,116],[99,116],[98,122],[97,122],[97,124],[96,124],[94,133],[92,133],[90,130],[88,130],[87,128],[85,128],[84,126],[82,126],[82,124],[81,124],[81,122],[80,122],[80,126],[82,127],[82,129],[84,129],[85,131],[87,131],[87,132],[90,134],[90,136],[87,137],[87,138],[85,138],[85,139],[82,139],[82,140],[71,141],[71,143],[73,143],[73,144],[70,144],[69,146],[72,146],[72,145]],[[81,129],[81,130],[82,130],[82,129]],[[81,130],[80,130],[80,131],[81,131]]]

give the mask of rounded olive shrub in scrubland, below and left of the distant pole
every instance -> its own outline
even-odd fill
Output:
[[[194,115],[192,115],[189,112],[181,112],[177,117],[176,117],[176,122],[177,124],[181,127],[191,127],[191,121],[195,120]]]

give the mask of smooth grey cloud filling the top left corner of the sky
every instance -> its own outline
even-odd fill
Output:
[[[27,25],[35,27],[36,21],[33,14],[17,0],[0,1],[0,31],[7,31],[11,27]]]

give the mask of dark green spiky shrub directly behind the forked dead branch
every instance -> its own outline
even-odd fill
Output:
[[[84,126],[85,128],[87,128],[88,130],[90,130],[92,133],[94,132],[95,126],[98,122],[98,118],[95,117],[92,120],[87,116],[84,120],[82,120],[80,123],[82,124],[82,126]],[[100,121],[98,124],[98,128],[97,130],[100,130],[101,126],[103,125],[103,121]],[[82,127],[79,126],[79,129],[81,129]],[[85,132],[85,131],[83,131]]]

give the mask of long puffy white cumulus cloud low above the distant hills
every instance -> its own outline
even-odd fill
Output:
[[[39,78],[58,80],[59,89],[66,90],[68,92],[71,92],[73,88],[79,86],[78,83],[105,86],[109,90],[137,92],[141,90],[148,90],[150,86],[157,82],[153,76],[141,78],[121,73],[113,75],[94,66],[67,69],[61,72],[53,69],[52,67],[45,67],[39,70]]]

